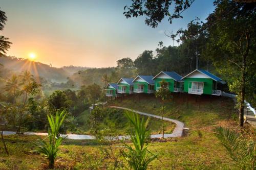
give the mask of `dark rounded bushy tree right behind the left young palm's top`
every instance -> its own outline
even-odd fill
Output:
[[[56,90],[49,96],[48,105],[50,112],[54,113],[57,110],[68,110],[70,107],[70,102],[65,92]]]

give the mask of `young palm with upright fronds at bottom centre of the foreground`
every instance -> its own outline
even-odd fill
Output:
[[[134,147],[124,143],[127,151],[124,151],[122,155],[131,169],[145,170],[147,169],[148,164],[157,158],[157,155],[154,155],[147,150],[150,131],[146,128],[150,119],[148,118],[145,121],[144,118],[142,118],[142,120],[140,120],[139,116],[132,112],[125,112],[125,116],[134,128],[130,132],[131,141]]]

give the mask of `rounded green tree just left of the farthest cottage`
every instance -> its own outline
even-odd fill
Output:
[[[101,88],[99,85],[94,83],[86,87],[86,93],[89,100],[92,102],[93,105],[95,105],[97,99],[100,98]]]

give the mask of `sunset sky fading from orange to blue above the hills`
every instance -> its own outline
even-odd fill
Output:
[[[157,28],[145,25],[144,16],[126,19],[123,7],[131,0],[0,0],[8,21],[1,35],[13,43],[7,55],[61,66],[110,67],[144,50],[155,50],[173,40],[164,32],[185,29],[196,16],[214,10],[214,0],[196,0],[172,25],[165,18]],[[175,45],[177,45],[175,43]]]

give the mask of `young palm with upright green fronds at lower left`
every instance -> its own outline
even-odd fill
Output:
[[[58,147],[61,142],[67,137],[59,136],[59,128],[63,123],[63,120],[66,117],[66,111],[56,112],[56,116],[54,118],[53,115],[47,115],[50,129],[48,130],[48,137],[43,140],[37,140],[34,144],[37,146],[36,152],[39,152],[47,157],[49,160],[49,168],[54,167],[54,161],[58,154]],[[46,140],[49,139],[49,142]]]

